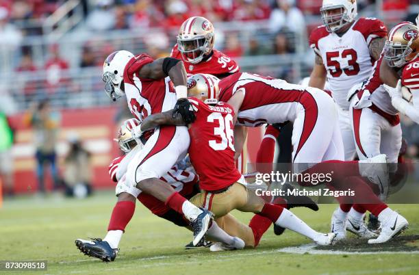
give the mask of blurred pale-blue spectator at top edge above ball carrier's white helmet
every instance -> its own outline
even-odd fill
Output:
[[[107,31],[115,25],[116,14],[112,8],[113,0],[98,0],[97,6],[88,15],[86,24],[92,31]]]

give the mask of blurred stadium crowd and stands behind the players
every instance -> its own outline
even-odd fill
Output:
[[[390,28],[414,21],[417,0],[358,0],[359,16]],[[215,48],[241,70],[298,83],[314,63],[307,37],[321,24],[321,0],[0,0],[0,174],[3,194],[75,186],[112,188],[112,142],[129,116],[125,101],[103,92],[101,69],[112,51],[170,53],[189,16],[210,19]],[[419,129],[403,118],[411,158]],[[258,140],[249,140],[249,148]],[[252,158],[252,152],[250,152]],[[56,161],[55,161],[56,159]],[[40,163],[52,163],[43,166]],[[45,188],[38,182],[45,181]],[[77,188],[76,188],[77,189]],[[77,193],[77,192],[76,192]]]

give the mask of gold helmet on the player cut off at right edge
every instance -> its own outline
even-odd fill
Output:
[[[410,22],[392,28],[384,45],[384,58],[390,67],[401,67],[419,54],[419,29]]]

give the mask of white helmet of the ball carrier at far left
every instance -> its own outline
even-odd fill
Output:
[[[132,57],[134,55],[129,51],[114,51],[103,63],[102,80],[105,82],[105,92],[113,101],[124,94],[124,69]]]

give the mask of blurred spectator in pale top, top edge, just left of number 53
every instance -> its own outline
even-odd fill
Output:
[[[277,0],[278,8],[272,11],[269,18],[269,29],[277,31],[293,31],[298,35],[305,34],[305,18],[299,8],[295,7],[295,0]]]

